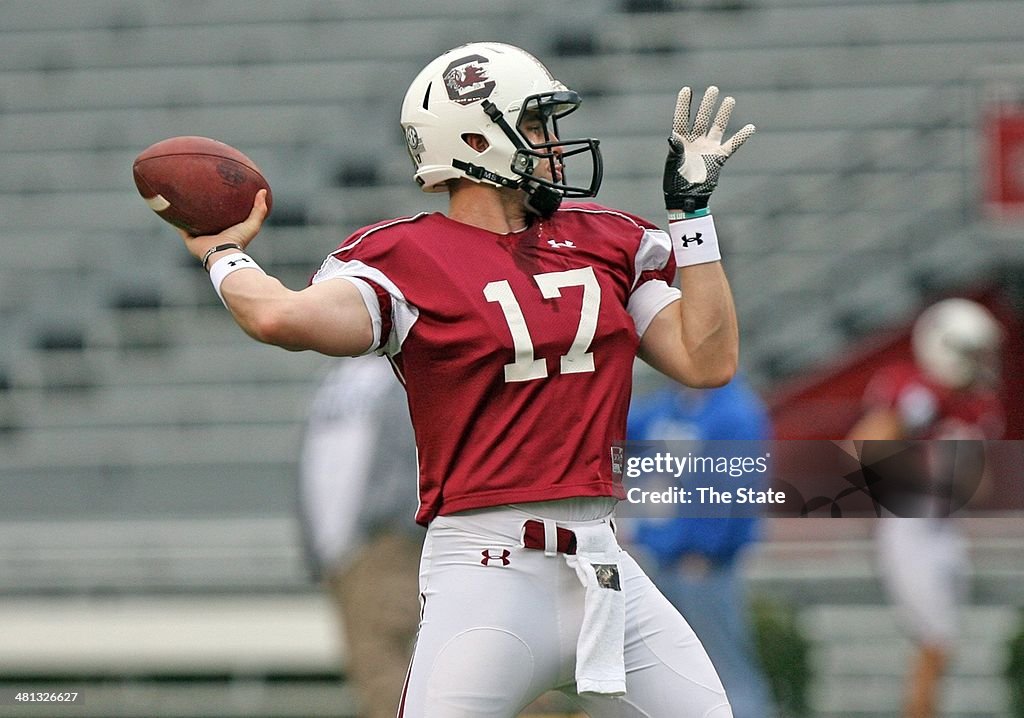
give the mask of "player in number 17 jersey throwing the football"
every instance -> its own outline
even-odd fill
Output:
[[[573,202],[602,175],[598,140],[562,136],[580,101],[517,47],[455,48],[401,108],[416,181],[446,212],[355,231],[301,291],[244,251],[262,194],[242,224],[184,236],[251,336],[383,354],[404,384],[427,536],[402,716],[509,718],[550,689],[591,716],[731,716],[700,642],[615,542],[611,446],[637,355],[690,386],[732,377],[708,201],[754,127],[723,139],[733,99],[709,88],[691,121],[680,92],[665,231]]]

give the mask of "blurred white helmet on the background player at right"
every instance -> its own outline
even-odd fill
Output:
[[[925,309],[913,325],[918,366],[944,386],[966,388],[998,378],[1002,330],[995,318],[969,299],[944,299]]]

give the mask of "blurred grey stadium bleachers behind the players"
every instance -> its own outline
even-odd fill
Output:
[[[442,49],[501,38],[548,60],[587,98],[572,133],[602,138],[602,202],[652,219],[675,92],[714,82],[738,98],[734,128],[759,125],[713,207],[743,361],[768,386],[905,319],[926,288],[961,287],[1006,261],[975,209],[975,99],[985,67],[1019,62],[1022,27],[1015,0],[0,4],[0,595],[285,596],[321,610],[294,483],[306,406],[330,363],[259,346],[231,323],[135,194],[131,160],[150,143],[204,134],[256,160],[278,211],[253,254],[300,287],[360,224],[443,207],[412,184],[396,129],[404,87]],[[965,236],[980,248],[967,257]],[[790,558],[766,556],[756,578],[772,588],[771,569],[784,575]],[[1020,590],[1024,576],[1013,577]],[[865,567],[851,580],[864,589],[872,578]],[[175,606],[172,626],[190,616]],[[1002,630],[995,606],[978,608],[979,635]],[[881,605],[863,609],[884,625]],[[846,640],[844,610],[822,596],[806,621]],[[315,616],[295,635],[324,628]],[[336,677],[323,649],[302,671],[337,700],[316,683]],[[884,701],[853,712],[845,696],[863,672],[882,681],[893,666],[821,650],[820,666],[845,663],[853,678],[816,688],[818,715],[891,715]],[[3,651],[6,670],[16,653]],[[253,682],[236,684],[248,707],[237,714],[348,710],[288,713],[268,698],[261,713],[247,690],[294,688],[264,683],[261,670],[294,673],[267,662],[239,670]],[[146,675],[176,670],[157,664]],[[130,663],[112,666],[139,678]],[[985,686],[990,712],[965,700],[950,715],[998,714],[990,683],[957,685]],[[145,701],[124,710],[187,714]]]

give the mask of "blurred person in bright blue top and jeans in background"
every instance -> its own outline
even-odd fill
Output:
[[[737,374],[725,386],[664,384],[630,408],[631,440],[763,440],[767,408]],[[756,654],[740,559],[759,538],[749,516],[639,519],[633,542],[652,565],[651,579],[693,628],[725,685],[735,718],[775,715]]]

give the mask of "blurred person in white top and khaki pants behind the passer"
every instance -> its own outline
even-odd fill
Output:
[[[329,592],[364,718],[394,718],[419,623],[423,529],[406,393],[377,356],[337,363],[313,396],[300,461],[313,576]]]

